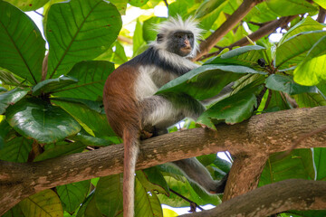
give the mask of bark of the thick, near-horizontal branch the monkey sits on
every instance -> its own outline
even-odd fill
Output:
[[[137,169],[226,150],[235,157],[268,156],[291,149],[297,138],[326,126],[325,117],[326,107],[289,109],[257,115],[232,126],[221,124],[216,126],[217,131],[194,128],[149,138],[141,142]],[[325,131],[305,137],[296,148],[317,146],[326,146]],[[25,197],[44,189],[119,174],[122,168],[123,145],[35,163],[0,161],[0,215]],[[249,168],[252,170],[246,170],[246,174],[257,170],[254,166]],[[245,175],[236,177],[237,182],[246,184],[240,189],[235,186],[229,198],[252,190],[256,185],[245,181]],[[256,180],[257,177],[251,178]]]

